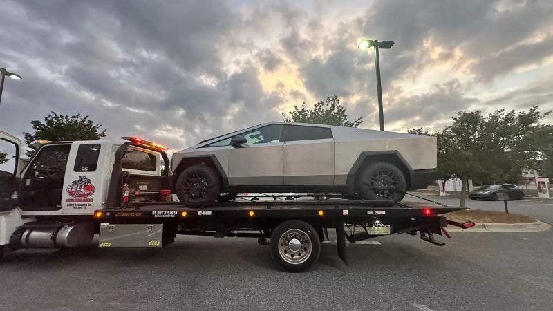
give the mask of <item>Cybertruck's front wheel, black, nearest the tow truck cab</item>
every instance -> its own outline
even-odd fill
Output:
[[[180,172],[175,191],[183,203],[214,202],[221,193],[221,178],[205,165],[192,165]]]

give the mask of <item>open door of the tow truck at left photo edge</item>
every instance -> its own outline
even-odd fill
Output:
[[[0,131],[0,211],[17,207],[21,140]]]

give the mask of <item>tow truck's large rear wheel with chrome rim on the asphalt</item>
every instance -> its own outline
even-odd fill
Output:
[[[308,269],[321,254],[317,231],[301,220],[288,220],[274,228],[269,245],[274,263],[289,272]]]

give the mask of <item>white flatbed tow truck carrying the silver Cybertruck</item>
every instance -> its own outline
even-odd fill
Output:
[[[3,132],[0,139],[15,146],[18,163],[21,142]],[[0,175],[0,255],[21,248],[75,247],[90,243],[95,234],[101,248],[164,247],[177,234],[236,236],[269,245],[277,266],[297,272],[317,262],[328,229],[335,229],[338,255],[348,263],[346,241],[410,234],[442,246],[435,235],[449,238],[448,224],[474,225],[441,216],[462,207],[409,202],[278,197],[171,202],[162,146],[125,140],[45,142],[23,169],[16,164],[11,174]]]

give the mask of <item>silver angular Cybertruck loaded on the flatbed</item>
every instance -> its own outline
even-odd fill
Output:
[[[180,202],[241,192],[338,193],[400,202],[438,178],[436,138],[324,124],[269,122],[174,153]]]

